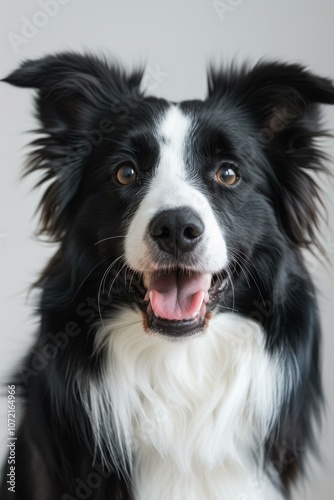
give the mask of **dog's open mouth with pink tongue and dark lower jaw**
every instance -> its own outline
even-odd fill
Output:
[[[146,329],[175,338],[205,330],[228,277],[177,268],[144,273],[141,282]]]

